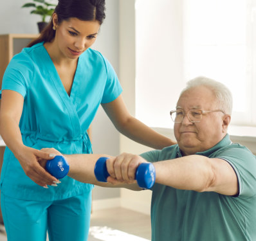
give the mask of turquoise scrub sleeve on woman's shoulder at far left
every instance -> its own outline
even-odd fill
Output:
[[[27,82],[32,72],[31,61],[24,57],[23,53],[15,55],[8,64],[3,76],[2,90],[8,89],[26,96]]]

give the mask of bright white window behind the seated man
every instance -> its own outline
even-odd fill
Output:
[[[232,91],[233,125],[256,126],[255,2],[136,0],[136,116],[172,127],[185,82],[203,75]]]

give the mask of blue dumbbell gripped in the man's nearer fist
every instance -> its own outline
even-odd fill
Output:
[[[107,172],[107,161],[108,157],[100,157],[95,164],[95,177],[100,182],[106,182],[109,173]],[[152,188],[156,179],[156,171],[152,163],[142,163],[138,166],[135,174],[135,179],[141,188]]]

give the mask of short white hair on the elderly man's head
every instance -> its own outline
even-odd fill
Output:
[[[228,87],[220,82],[217,82],[210,78],[206,78],[205,76],[199,76],[188,81],[187,87],[185,87],[185,89],[181,91],[181,94],[183,94],[185,91],[188,91],[188,89],[199,86],[205,86],[210,89],[212,93],[214,93],[217,99],[217,103],[219,105],[219,109],[224,111],[226,114],[232,113],[232,93],[230,92]],[[179,95],[179,97],[181,96],[181,94]]]

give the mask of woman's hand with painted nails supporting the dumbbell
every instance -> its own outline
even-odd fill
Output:
[[[46,172],[42,167],[46,161],[53,159],[47,152],[24,146],[19,154],[16,155],[25,174],[39,186],[47,188],[47,185],[56,186],[58,179]]]

